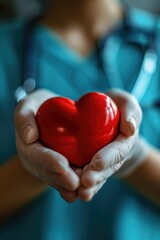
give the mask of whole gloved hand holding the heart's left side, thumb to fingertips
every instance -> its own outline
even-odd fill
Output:
[[[14,117],[17,151],[23,166],[32,175],[59,191],[67,202],[74,202],[80,185],[78,174],[64,156],[38,142],[35,115],[45,100],[55,96],[47,90],[38,90],[17,105]]]

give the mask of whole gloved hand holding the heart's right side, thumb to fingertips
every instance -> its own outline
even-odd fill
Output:
[[[128,169],[133,170],[145,155],[138,134],[142,111],[136,98],[121,90],[112,90],[107,95],[114,100],[121,112],[120,130],[117,138],[97,152],[84,167],[78,190],[78,196],[83,201],[90,201],[107,179],[120,168],[122,176]],[[127,163],[127,169],[124,163]]]

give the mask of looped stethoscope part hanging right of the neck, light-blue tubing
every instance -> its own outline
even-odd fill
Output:
[[[137,9],[128,11],[123,22],[123,26],[112,32],[111,37],[104,38],[98,46],[100,67],[106,77],[110,88],[121,88],[127,90],[119,73],[116,57],[123,44],[129,44],[140,48],[143,51],[143,61],[134,86],[130,92],[137,98],[143,110],[160,108],[160,93],[156,100],[142,103],[146,91],[148,90],[154,74],[158,68],[158,50],[160,51],[160,22],[153,21],[150,29],[137,21]],[[142,13],[142,11],[140,11]],[[145,12],[144,12],[145,14]],[[136,16],[136,19],[135,19]]]

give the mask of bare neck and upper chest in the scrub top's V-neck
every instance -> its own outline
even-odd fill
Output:
[[[123,9],[116,0],[58,0],[52,3],[41,23],[54,29],[71,48],[86,56],[122,16]]]

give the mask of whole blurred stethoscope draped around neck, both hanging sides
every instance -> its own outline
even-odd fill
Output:
[[[132,11],[133,12],[133,11]],[[134,13],[129,13],[128,16],[134,16]],[[134,44],[137,47],[144,48],[144,58],[142,65],[132,88],[131,93],[136,96],[141,103],[151,80],[158,67],[158,42],[160,36],[156,28],[154,31],[148,32],[143,27],[134,26],[134,21],[130,21],[132,17],[125,17],[123,27],[116,31],[116,35],[120,36],[125,43]],[[35,21],[36,23],[36,21]],[[34,41],[34,24],[33,21],[26,29],[26,40],[24,42],[24,63],[23,63],[23,85],[15,91],[17,102],[25,98],[29,93],[36,89],[36,44]],[[113,33],[110,35],[114,35]],[[145,40],[147,38],[147,41]],[[113,38],[114,39],[114,38]],[[105,37],[98,44],[98,59],[102,72],[105,75],[106,81],[110,88],[115,86],[125,90],[124,83],[120,77],[116,66],[116,55],[121,47],[121,42],[112,44],[112,37]],[[110,44],[110,46],[108,46]],[[150,103],[142,106],[143,110],[160,108],[160,97]]]

